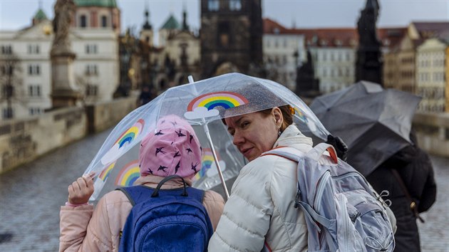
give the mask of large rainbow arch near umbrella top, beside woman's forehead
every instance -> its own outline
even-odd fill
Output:
[[[193,111],[197,107],[206,107],[207,110],[212,110],[217,106],[228,109],[230,107],[238,107],[240,105],[247,104],[247,98],[243,95],[234,92],[214,92],[200,95],[193,99],[189,105],[187,105],[187,111]]]

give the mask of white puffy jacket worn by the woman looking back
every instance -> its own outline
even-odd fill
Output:
[[[309,137],[290,125],[273,147],[288,146],[308,152]],[[297,163],[266,155],[240,171],[209,251],[261,251],[264,242],[271,251],[306,251],[304,213],[295,209]]]

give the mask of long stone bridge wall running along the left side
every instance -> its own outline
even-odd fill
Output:
[[[122,98],[86,108],[66,107],[26,119],[1,121],[0,173],[90,133],[108,129],[135,107],[135,97]]]

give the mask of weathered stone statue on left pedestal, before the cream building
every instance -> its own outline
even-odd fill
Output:
[[[71,53],[71,43],[68,39],[71,21],[75,15],[73,0],[57,0],[55,4],[55,17],[53,19],[53,45],[51,53]]]

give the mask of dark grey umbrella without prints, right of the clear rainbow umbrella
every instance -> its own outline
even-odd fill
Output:
[[[368,176],[398,150],[411,145],[416,95],[366,81],[321,95],[310,105],[332,135],[349,147],[347,162]]]

